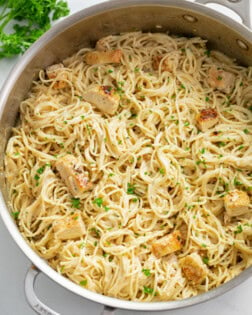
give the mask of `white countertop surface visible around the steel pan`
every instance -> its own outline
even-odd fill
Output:
[[[245,0],[250,1],[250,0]],[[99,0],[68,0],[71,13],[100,2]],[[214,1],[210,1],[214,2]],[[228,13],[228,11],[226,11]],[[0,87],[18,58],[0,60]],[[24,277],[31,265],[12,240],[0,219],[0,315],[34,315],[24,296]],[[102,306],[85,300],[40,275],[35,290],[41,300],[61,315],[100,314]],[[212,301],[187,309],[166,312],[116,311],[116,315],[167,314],[167,315],[251,315],[252,278],[230,292]]]

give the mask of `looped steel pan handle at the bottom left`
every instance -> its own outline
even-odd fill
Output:
[[[34,265],[31,265],[31,267],[26,273],[25,296],[27,302],[29,303],[31,308],[39,315],[60,315],[60,313],[53,311],[51,308],[46,306],[38,299],[34,291],[34,284],[39,274],[40,270]],[[115,312],[114,308],[105,305],[101,315],[114,315],[114,312]]]

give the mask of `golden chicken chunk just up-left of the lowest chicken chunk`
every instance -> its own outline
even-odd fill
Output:
[[[177,250],[180,250],[182,247],[180,240],[181,240],[180,231],[174,231],[160,238],[156,242],[153,242],[152,252],[158,258],[176,252]]]

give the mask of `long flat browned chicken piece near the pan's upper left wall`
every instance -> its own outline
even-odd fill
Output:
[[[107,51],[90,51],[85,56],[88,65],[101,65],[106,63],[121,63],[121,49]]]

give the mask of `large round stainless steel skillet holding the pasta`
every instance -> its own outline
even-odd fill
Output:
[[[210,2],[209,0],[198,2],[200,4],[185,0],[115,0],[84,9],[54,26],[21,58],[1,91],[1,163],[3,164],[6,142],[15,124],[20,101],[27,95],[38,70],[64,59],[81,47],[93,45],[103,36],[135,30],[152,32],[169,30],[173,34],[197,35],[207,38],[210,48],[217,48],[244,65],[252,65],[252,32],[248,28],[250,0],[211,0],[233,8],[247,26],[202,5]],[[70,291],[104,304],[104,314],[112,314],[114,308],[160,311],[187,307],[223,294],[252,274],[250,267],[217,289],[181,301],[139,303],[88,291],[58,274],[25,242],[8,209],[3,165],[1,170],[0,212],[10,234],[34,264],[27,273],[25,289],[29,304],[38,314],[58,314],[41,303],[34,293],[34,281],[40,271]]]

